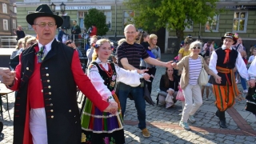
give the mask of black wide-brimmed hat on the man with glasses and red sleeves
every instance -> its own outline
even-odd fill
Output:
[[[55,23],[57,27],[62,26],[63,19],[62,17],[59,17],[58,15],[55,15],[53,11],[50,10],[50,7],[46,4],[41,4],[38,6],[38,8],[35,10],[34,13],[28,14],[26,16],[26,22],[28,22],[31,26],[34,25],[34,19],[39,17],[52,17],[55,19]]]

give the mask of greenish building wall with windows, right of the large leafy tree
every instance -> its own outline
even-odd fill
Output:
[[[226,32],[233,32],[239,34],[247,50],[256,45],[256,0],[220,0],[217,7],[225,12],[215,15],[211,23],[187,26],[184,35],[191,34],[203,42],[214,40],[218,45]],[[179,45],[174,30],[169,31],[168,39],[168,47]]]

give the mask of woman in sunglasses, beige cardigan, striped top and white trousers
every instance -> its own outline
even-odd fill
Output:
[[[202,67],[208,74],[214,76],[216,82],[220,82],[221,79],[218,74],[214,74],[214,72],[209,69],[202,56],[199,55],[201,49],[201,42],[192,42],[189,49],[190,55],[182,58],[180,62],[174,62],[172,64],[175,69],[183,69],[180,86],[184,94],[185,106],[182,111],[182,119],[179,122],[179,126],[185,130],[190,130],[190,126],[188,125],[187,120],[189,120],[191,123],[196,122],[194,119],[194,114],[202,105],[202,93],[201,88],[198,85],[198,78]]]

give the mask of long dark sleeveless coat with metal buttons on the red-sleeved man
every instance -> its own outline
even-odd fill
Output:
[[[34,46],[22,53],[22,79],[14,105],[14,144],[23,141],[28,82],[34,72]],[[40,67],[49,144],[81,142],[76,84],[70,69],[73,54],[74,49],[54,39]]]

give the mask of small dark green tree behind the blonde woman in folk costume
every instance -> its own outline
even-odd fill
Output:
[[[97,9],[90,9],[88,13],[85,14],[84,24],[88,30],[90,26],[95,25],[97,27],[97,34],[102,36],[106,35],[106,32],[109,30],[106,24],[106,15]]]

